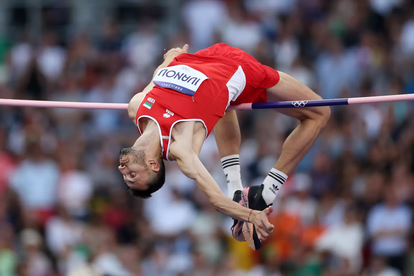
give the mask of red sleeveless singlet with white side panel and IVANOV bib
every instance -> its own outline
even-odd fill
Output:
[[[243,73],[236,62],[181,54],[154,77],[154,88],[141,102],[136,115],[159,125],[163,157],[168,160],[171,131],[178,122],[198,121],[205,137],[223,117],[234,95],[243,91]],[[231,91],[232,94],[229,94]],[[140,130],[141,131],[141,130]]]

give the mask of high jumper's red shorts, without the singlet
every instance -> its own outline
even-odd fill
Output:
[[[236,101],[232,101],[231,104],[266,102],[266,89],[276,85],[280,79],[279,73],[273,68],[262,65],[245,51],[225,43],[214,44],[194,55],[223,58],[241,65],[246,75],[246,86]]]

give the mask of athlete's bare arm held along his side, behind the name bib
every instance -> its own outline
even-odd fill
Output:
[[[154,79],[156,72],[158,72],[158,70],[160,70],[161,68],[168,67],[168,64],[170,64],[174,60],[174,58],[176,58],[176,56],[182,53],[187,53],[187,50],[188,50],[188,44],[185,44],[183,48],[172,48],[168,50],[168,52],[165,54],[164,62],[162,62],[161,65],[159,65],[156,68],[156,70],[154,71],[154,74],[152,74],[151,82],[149,82],[149,84],[144,88],[144,90],[142,90],[142,92],[135,94],[135,96],[132,97],[131,101],[128,104],[128,116],[132,120],[132,122],[134,122],[134,124],[137,123],[135,122],[135,117],[137,115],[137,110],[142,101],[142,98],[144,98],[145,95],[149,91],[151,91],[155,86],[152,80]]]

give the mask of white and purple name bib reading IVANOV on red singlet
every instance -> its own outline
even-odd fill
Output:
[[[161,68],[156,72],[154,84],[156,86],[174,89],[185,95],[194,96],[201,83],[208,77],[202,72],[188,65],[174,65]]]

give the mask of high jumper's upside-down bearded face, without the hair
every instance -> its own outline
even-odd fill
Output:
[[[145,153],[133,148],[121,149],[119,171],[127,185],[135,190],[145,190],[148,185],[149,168],[145,163]]]

